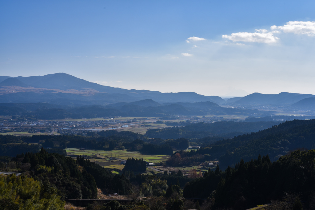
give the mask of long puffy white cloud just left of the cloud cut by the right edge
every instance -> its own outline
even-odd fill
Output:
[[[233,42],[258,42],[258,43],[276,43],[278,37],[273,36],[274,32],[268,32],[266,29],[256,29],[256,32],[238,32],[229,35],[222,35]]]

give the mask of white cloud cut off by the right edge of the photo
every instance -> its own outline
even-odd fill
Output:
[[[271,26],[271,30],[280,29],[284,33],[306,34],[307,36],[315,36],[314,21],[289,21],[283,26]]]

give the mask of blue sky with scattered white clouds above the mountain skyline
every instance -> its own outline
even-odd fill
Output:
[[[315,1],[1,1],[0,76],[315,94]]]

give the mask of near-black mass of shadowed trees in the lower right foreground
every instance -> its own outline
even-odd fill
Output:
[[[210,198],[213,207],[247,209],[271,202],[267,209],[315,207],[315,150],[293,151],[271,162],[258,156],[250,162],[241,160],[222,172],[219,167],[185,185],[185,198]],[[207,186],[206,188],[204,186]],[[276,201],[284,198],[283,202]]]

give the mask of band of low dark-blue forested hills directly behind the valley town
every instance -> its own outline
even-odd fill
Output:
[[[59,93],[60,94],[60,93]],[[13,94],[12,94],[13,95]],[[46,94],[48,95],[48,94]],[[60,94],[62,95],[62,94]],[[71,100],[71,99],[64,99]],[[96,118],[109,116],[134,116],[134,117],[165,117],[165,116],[194,116],[194,115],[226,115],[226,114],[270,114],[272,112],[251,109],[232,109],[221,107],[213,102],[198,103],[172,103],[158,104],[152,101],[147,105],[146,100],[135,101],[129,104],[117,103],[102,105],[56,105],[47,103],[0,103],[0,115],[18,115],[20,119],[65,119],[65,118]],[[71,103],[73,105],[73,103]],[[83,103],[84,104],[84,103]],[[200,105],[203,104],[203,105]]]

